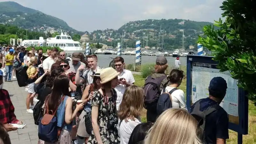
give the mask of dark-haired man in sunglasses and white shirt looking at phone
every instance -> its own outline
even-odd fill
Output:
[[[132,72],[130,70],[124,69],[124,59],[122,57],[116,57],[114,59],[116,71],[120,72],[118,75],[118,84],[115,87],[116,93],[117,93],[117,99],[116,99],[116,110],[119,110],[119,105],[121,104],[121,101],[123,99],[124,91],[127,87],[135,83],[134,77],[132,75]]]

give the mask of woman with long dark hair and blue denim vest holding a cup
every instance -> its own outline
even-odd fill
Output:
[[[72,120],[75,118],[76,113],[84,107],[84,103],[76,105],[76,109],[72,112],[72,102],[69,87],[69,78],[64,75],[58,76],[53,82],[52,93],[45,99],[44,113],[46,109],[49,111],[57,111],[57,126],[62,127],[58,143],[71,144],[71,129]],[[64,125],[63,125],[64,124]],[[42,140],[39,140],[39,144],[46,144]]]

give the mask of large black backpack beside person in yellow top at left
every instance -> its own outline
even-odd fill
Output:
[[[15,71],[19,87],[28,85],[27,70],[28,70],[28,66],[20,66]]]

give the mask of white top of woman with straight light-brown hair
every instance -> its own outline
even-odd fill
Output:
[[[137,118],[135,118],[135,121],[131,119],[128,119],[127,122],[125,120],[122,120],[121,124],[119,120],[118,125],[120,126],[118,129],[118,135],[120,137],[120,144],[128,144],[133,129],[140,123],[140,120]]]

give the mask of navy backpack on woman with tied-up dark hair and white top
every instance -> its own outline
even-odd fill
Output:
[[[156,112],[159,115],[161,115],[166,109],[172,108],[172,92],[178,90],[177,88],[173,88],[170,92],[165,92],[165,88],[163,89],[163,93],[160,95]]]

